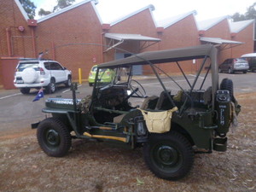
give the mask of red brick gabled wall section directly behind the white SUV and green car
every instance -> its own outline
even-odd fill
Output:
[[[72,70],[73,79],[79,79],[79,68],[87,79],[90,68],[102,62],[102,25],[91,3],[38,23],[36,33],[38,52],[47,49],[44,58],[61,62]]]

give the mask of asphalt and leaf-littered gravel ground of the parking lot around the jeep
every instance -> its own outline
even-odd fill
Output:
[[[178,182],[154,177],[144,165],[140,149],[108,148],[78,140],[66,157],[46,156],[30,124],[44,119],[45,99],[71,98],[72,92],[60,87],[55,94],[32,102],[38,90],[29,95],[0,90],[0,191],[254,191],[256,73],[219,75],[220,80],[233,80],[242,106],[239,126],[230,132],[226,153],[196,154],[191,173]],[[142,79],[141,83],[153,90],[158,87],[155,79]],[[88,84],[80,85],[78,98],[91,90]]]

